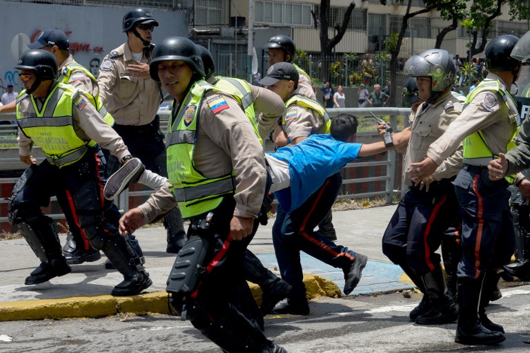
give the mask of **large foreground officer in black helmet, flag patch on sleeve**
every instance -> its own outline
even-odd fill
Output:
[[[195,243],[208,248],[204,260],[197,263],[205,269],[197,279],[200,284],[183,289],[181,315],[226,352],[285,352],[266,339],[251,314],[257,305],[242,271],[268,191],[255,121],[245,115],[235,97],[204,81],[197,46],[186,38],[170,37],[158,44],[150,74],[175,97],[166,138],[167,162],[182,216],[190,220],[184,248]],[[167,209],[162,199],[173,202],[161,189],[150,201],[124,214],[120,229],[136,229],[153,220]],[[183,249],[176,263],[186,254]],[[179,276],[170,275],[172,296],[181,293],[175,289],[184,288],[179,287],[181,282]]]

